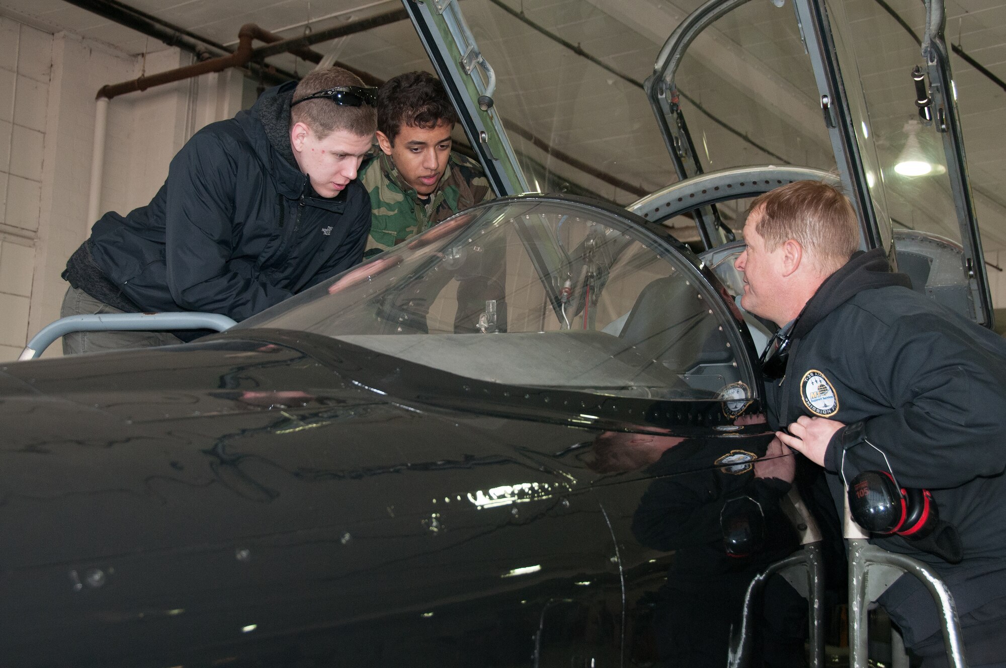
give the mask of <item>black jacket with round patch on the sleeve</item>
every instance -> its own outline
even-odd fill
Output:
[[[840,509],[843,447],[849,480],[887,468],[864,437],[902,487],[933,491],[940,517],[960,533],[959,565],[902,537],[871,542],[937,568],[964,614],[1006,593],[1006,340],[909,286],[880,251],[853,256],[825,281],[794,325],[786,377],[768,387],[771,418],[783,427],[800,415],[847,426],[825,455]],[[846,431],[862,436],[843,446]],[[965,580],[966,590],[956,588]],[[915,629],[915,639],[928,630]]]

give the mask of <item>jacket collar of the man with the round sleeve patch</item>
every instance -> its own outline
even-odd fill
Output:
[[[904,274],[890,271],[882,249],[856,251],[849,262],[825,279],[807,301],[793,326],[793,338],[804,338],[825,316],[864,290],[888,286],[910,289],[911,281]]]

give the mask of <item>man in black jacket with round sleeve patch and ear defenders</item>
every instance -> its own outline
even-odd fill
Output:
[[[751,204],[741,305],[789,338],[785,376],[767,383],[770,420],[824,467],[839,512],[843,474],[889,464],[901,487],[932,491],[946,531],[871,542],[941,573],[970,665],[1006,665],[1006,341],[913,292],[882,252],[856,252],[858,238],[848,199],[823,183]],[[914,577],[880,604],[924,666],[946,661],[936,606]]]

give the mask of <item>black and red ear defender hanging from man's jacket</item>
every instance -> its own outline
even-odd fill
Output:
[[[886,471],[863,471],[849,485],[849,510],[871,533],[921,540],[933,533],[940,512],[925,489],[898,488]]]

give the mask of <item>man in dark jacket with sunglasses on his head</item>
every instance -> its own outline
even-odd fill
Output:
[[[148,205],[95,223],[66,264],[62,315],[206,311],[240,321],[359,263],[370,200],[356,170],[375,106],[374,89],[330,67],[197,132]],[[63,351],[196,335],[78,333]]]

